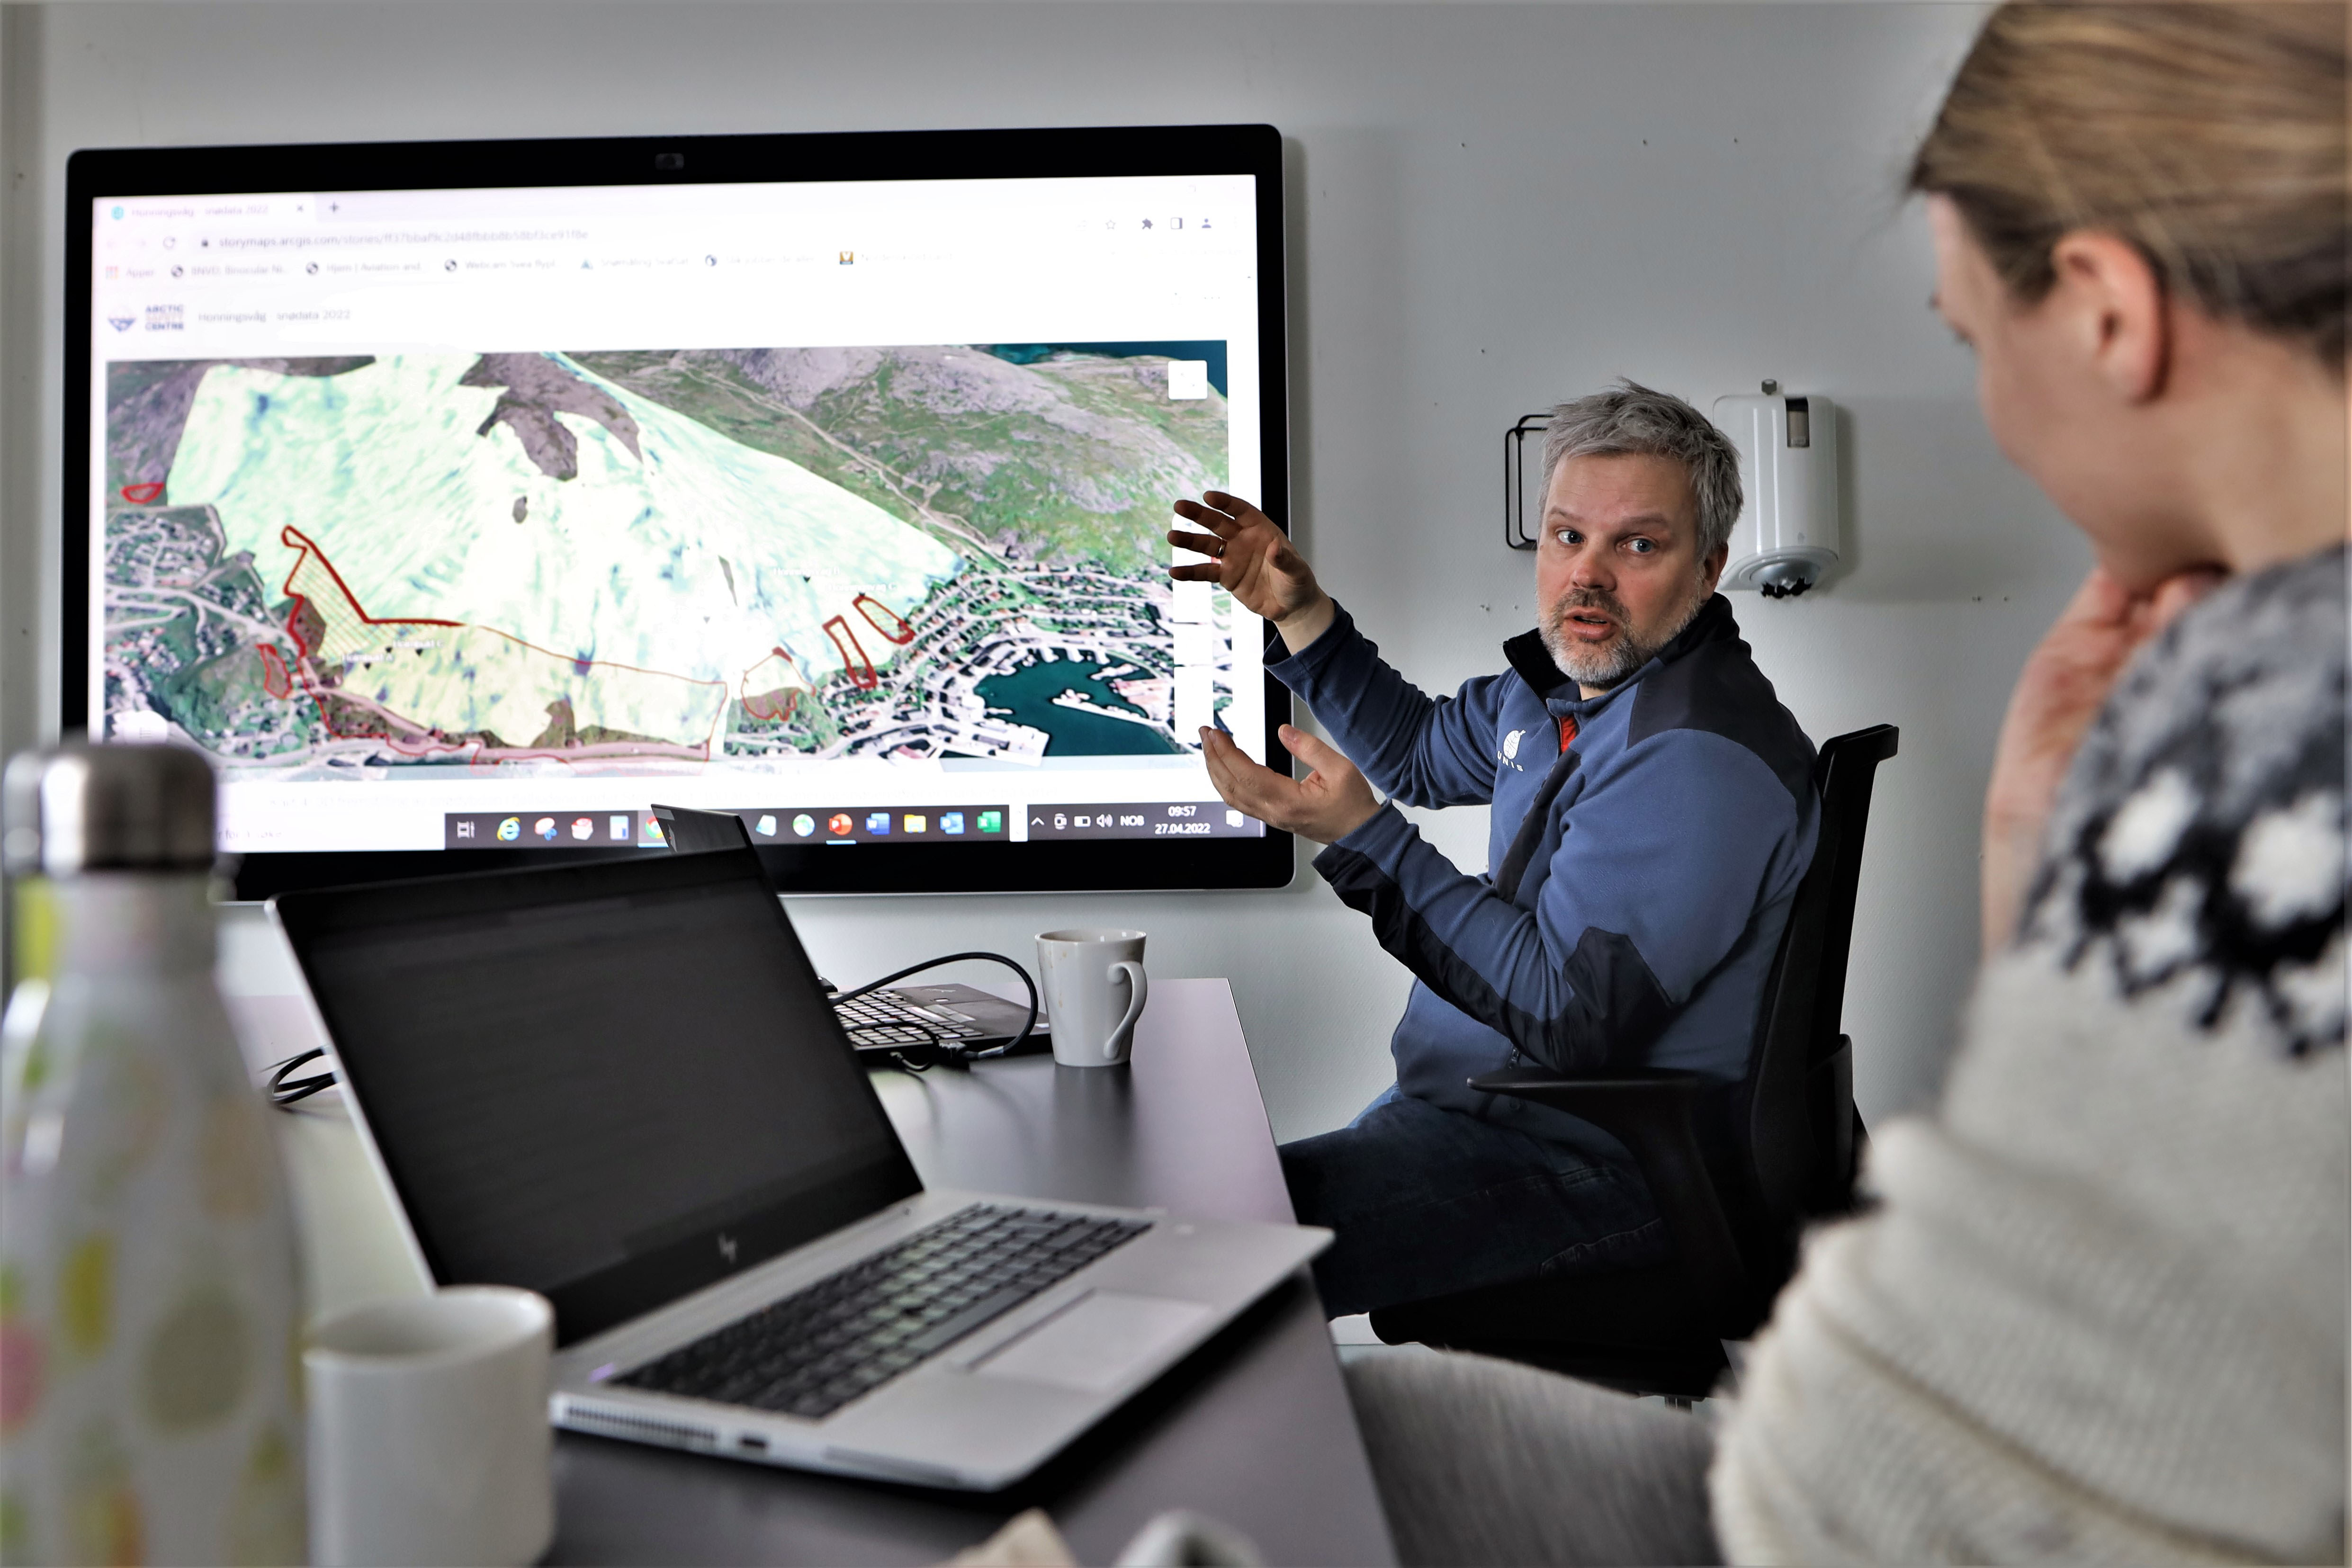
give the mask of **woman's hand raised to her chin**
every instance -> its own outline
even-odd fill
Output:
[[[2091,719],[2150,637],[2201,599],[2218,571],[2183,571],[2133,595],[2093,567],[2009,693],[1985,788],[1985,957],[2009,945],[2042,858],[2042,830]]]

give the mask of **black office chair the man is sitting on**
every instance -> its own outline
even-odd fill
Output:
[[[1616,1135],[1649,1180],[1675,1258],[1385,1307],[1371,1314],[1381,1340],[1475,1349],[1635,1394],[1700,1399],[1715,1387],[1724,1340],[1755,1333],[1795,1272],[1804,1222],[1853,1204],[1863,1124],[1839,1013],[1870,785],[1898,733],[1872,724],[1820,748],[1820,837],[1764,980],[1748,1077],[1512,1067],[1470,1079]]]

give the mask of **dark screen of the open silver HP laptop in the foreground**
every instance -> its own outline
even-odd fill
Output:
[[[557,1340],[922,1190],[750,851],[287,893],[437,1284]]]

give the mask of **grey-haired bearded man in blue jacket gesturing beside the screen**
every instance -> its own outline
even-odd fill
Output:
[[[1291,780],[1204,729],[1228,804],[1329,844],[1315,870],[1418,983],[1397,1081],[1350,1126],[1282,1147],[1298,1218],[1338,1241],[1324,1307],[1369,1312],[1477,1286],[1665,1258],[1632,1157],[1588,1121],[1479,1095],[1510,1065],[1677,1067],[1736,1079],[1797,882],[1813,858],[1813,745],[1715,592],[1740,512],[1731,442],[1679,397],[1623,381],[1552,411],[1536,630],[1510,670],[1430,698],[1317,588],[1289,538],[1211,491],[1185,581],[1268,618],[1270,665],[1336,741],[1284,726]],[[1411,806],[1491,802],[1486,877]]]

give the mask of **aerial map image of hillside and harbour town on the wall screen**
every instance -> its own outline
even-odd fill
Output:
[[[108,729],[287,778],[1185,750],[1223,350],[115,362]]]

